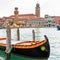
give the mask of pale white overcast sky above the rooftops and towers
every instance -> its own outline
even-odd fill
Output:
[[[35,14],[36,3],[40,4],[40,16],[60,16],[60,0],[0,0],[0,17],[14,14],[18,7],[19,14]]]

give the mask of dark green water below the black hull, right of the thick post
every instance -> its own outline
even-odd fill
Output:
[[[25,56],[18,56],[15,54],[11,55],[11,60],[48,60],[47,58],[29,58],[29,57],[25,57]]]

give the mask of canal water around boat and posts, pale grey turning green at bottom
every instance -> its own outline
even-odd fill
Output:
[[[48,59],[33,59],[11,54],[10,60],[60,60],[60,31],[57,28],[20,28],[20,40],[32,40],[32,30],[35,30],[36,40],[43,40],[47,35],[50,42],[50,57]],[[17,29],[11,30],[12,40],[17,40]],[[6,37],[6,29],[0,29],[0,38]],[[5,60],[6,54],[0,51],[0,60]]]

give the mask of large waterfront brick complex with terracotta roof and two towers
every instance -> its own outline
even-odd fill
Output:
[[[15,7],[14,15],[4,18],[5,21],[9,21],[11,27],[43,27],[40,25],[41,21],[44,20],[40,17],[39,3],[36,4],[35,14],[19,14],[18,8]]]

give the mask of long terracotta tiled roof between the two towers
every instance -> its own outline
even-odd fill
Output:
[[[10,18],[14,18],[14,15],[11,15]],[[44,20],[44,18],[38,18],[35,14],[21,14],[18,15],[18,20]]]

